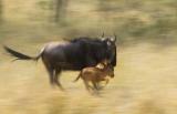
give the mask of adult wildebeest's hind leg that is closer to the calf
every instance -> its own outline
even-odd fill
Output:
[[[61,89],[64,90],[62,84],[60,83],[60,73],[61,73],[61,69],[56,69],[55,70],[55,75],[54,75],[54,83]]]

